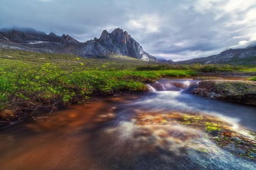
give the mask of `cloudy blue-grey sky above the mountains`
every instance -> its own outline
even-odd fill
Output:
[[[175,61],[256,42],[255,0],[0,0],[0,27],[75,39],[122,28],[146,52]]]

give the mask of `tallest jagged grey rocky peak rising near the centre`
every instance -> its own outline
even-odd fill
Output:
[[[114,29],[111,33],[103,30],[99,39],[84,43],[81,56],[104,57],[110,54],[118,54],[141,60],[156,60],[155,57],[146,53],[127,31],[121,28]]]

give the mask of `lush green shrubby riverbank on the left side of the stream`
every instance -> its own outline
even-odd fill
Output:
[[[95,71],[44,64],[0,70],[0,121],[11,123],[64,105],[82,104],[93,95],[147,91],[145,82],[165,76],[192,76],[191,70]]]

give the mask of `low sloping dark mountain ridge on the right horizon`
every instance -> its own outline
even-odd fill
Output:
[[[175,64],[256,64],[256,46],[248,46],[247,48],[228,49],[208,57],[184,60],[175,62]]]

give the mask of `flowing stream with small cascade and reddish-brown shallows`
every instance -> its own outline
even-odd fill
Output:
[[[91,99],[0,129],[2,170],[254,170],[180,115],[256,130],[256,108],[190,94],[198,81],[160,79],[149,92]],[[199,120],[200,121],[200,120]]]

